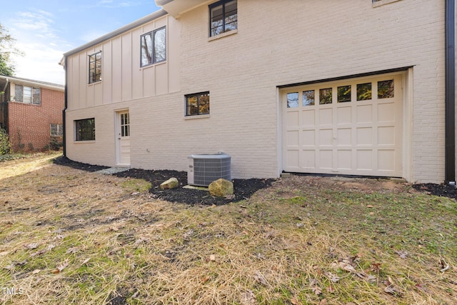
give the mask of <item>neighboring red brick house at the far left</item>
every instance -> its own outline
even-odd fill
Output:
[[[62,141],[65,87],[44,81],[0,76],[0,126],[13,151],[39,151]]]

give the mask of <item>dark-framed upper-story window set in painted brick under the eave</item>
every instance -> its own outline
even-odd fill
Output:
[[[236,0],[221,0],[209,6],[209,36],[238,29]]]

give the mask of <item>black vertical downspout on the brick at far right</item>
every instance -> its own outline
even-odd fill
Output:
[[[446,0],[445,183],[456,185],[456,3]]]

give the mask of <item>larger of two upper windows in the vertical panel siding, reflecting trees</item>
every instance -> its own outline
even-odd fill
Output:
[[[141,35],[141,66],[156,64],[166,59],[166,29],[156,29]]]

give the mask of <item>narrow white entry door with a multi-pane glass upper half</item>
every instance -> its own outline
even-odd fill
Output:
[[[116,148],[117,164],[121,166],[130,165],[130,116],[129,110],[116,113]]]

